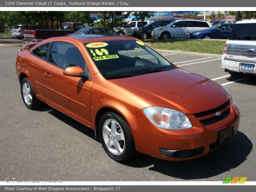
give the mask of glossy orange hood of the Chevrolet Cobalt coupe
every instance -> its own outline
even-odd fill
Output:
[[[185,114],[213,109],[228,100],[221,85],[180,68],[109,81],[137,94],[152,106]]]

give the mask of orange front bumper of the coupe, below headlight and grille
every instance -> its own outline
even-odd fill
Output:
[[[240,113],[236,106],[230,106],[230,114],[226,118],[210,125],[203,125],[194,115],[187,115],[193,128],[184,130],[158,128],[142,110],[127,120],[138,152],[164,160],[183,161],[203,156],[218,148],[220,131],[232,127],[233,135],[236,134]],[[185,155],[181,157],[180,154]]]

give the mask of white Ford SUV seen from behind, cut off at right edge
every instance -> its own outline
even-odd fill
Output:
[[[256,20],[237,21],[226,41],[221,67],[231,76],[256,74]]]

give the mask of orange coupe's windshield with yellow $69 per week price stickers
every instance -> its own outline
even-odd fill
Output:
[[[85,44],[100,73],[107,79],[176,68],[156,51],[136,40]]]

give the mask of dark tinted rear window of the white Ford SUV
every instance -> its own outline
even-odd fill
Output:
[[[235,24],[229,39],[230,40],[256,40],[256,23]]]

